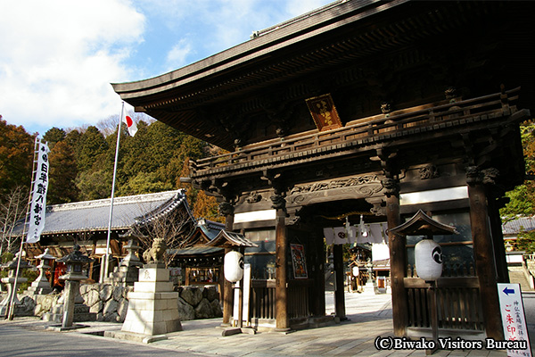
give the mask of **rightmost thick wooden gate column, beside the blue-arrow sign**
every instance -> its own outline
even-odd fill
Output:
[[[490,237],[487,194],[483,186],[483,173],[475,166],[466,168],[470,224],[472,226],[473,257],[480,284],[481,304],[487,336],[503,340],[499,312],[497,270]]]

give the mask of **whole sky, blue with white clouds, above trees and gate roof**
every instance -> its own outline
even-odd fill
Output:
[[[41,136],[119,116],[110,83],[147,79],[333,0],[0,2],[0,115]]]

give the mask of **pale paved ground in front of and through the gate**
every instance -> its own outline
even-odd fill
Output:
[[[535,335],[535,294],[524,295],[531,339]],[[333,311],[333,294],[325,294],[326,313]],[[221,336],[220,319],[184,321],[184,331],[150,345],[86,335],[91,331],[119,329],[120,324],[94,322],[90,328],[71,332],[45,331],[46,322],[35,318],[0,320],[1,356],[424,356],[424,351],[377,351],[377,336],[392,336],[391,296],[346,294],[350,320],[325,328],[312,328],[289,335]],[[505,351],[439,351],[436,356],[500,356]]]

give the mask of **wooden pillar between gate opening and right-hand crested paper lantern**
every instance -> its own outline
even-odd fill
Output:
[[[399,183],[394,179],[383,180],[386,192],[386,220],[388,228],[395,228],[401,224],[399,215]],[[407,272],[407,238],[388,234],[391,256],[391,290],[392,290],[392,320],[394,334],[407,334],[408,303],[404,278]]]

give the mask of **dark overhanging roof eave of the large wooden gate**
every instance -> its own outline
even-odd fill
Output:
[[[353,0],[325,6],[177,71],[113,88],[136,111],[229,150],[236,137],[245,145],[255,141],[242,128],[259,115],[278,120],[287,107],[304,107],[307,97],[348,81],[359,83],[353,91],[399,93],[403,84],[396,84],[393,73],[413,68],[424,68],[418,76],[434,76],[443,86],[449,81],[471,87],[471,95],[489,93],[489,83],[506,82],[523,86],[529,98],[532,15],[533,5],[520,2]],[[485,73],[493,78],[482,77]],[[487,86],[486,92],[478,86]],[[269,93],[277,93],[273,103],[266,103]],[[439,94],[431,89],[421,103]],[[359,115],[345,114],[346,122]],[[267,135],[276,137],[275,130]]]

